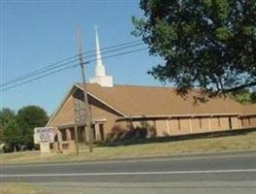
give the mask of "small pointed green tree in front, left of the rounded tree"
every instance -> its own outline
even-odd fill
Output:
[[[8,144],[10,151],[18,150],[22,144],[22,134],[15,117],[8,120],[4,127],[4,141]]]

